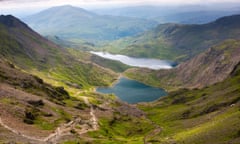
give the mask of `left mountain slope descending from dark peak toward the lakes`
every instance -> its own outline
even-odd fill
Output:
[[[110,85],[117,75],[92,62],[76,59],[13,16],[0,17],[0,55],[48,80],[81,88]]]

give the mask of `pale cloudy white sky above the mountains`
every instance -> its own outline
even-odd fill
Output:
[[[207,5],[212,3],[240,3],[240,0],[0,0],[0,14],[23,16],[60,5],[97,9],[132,5]]]

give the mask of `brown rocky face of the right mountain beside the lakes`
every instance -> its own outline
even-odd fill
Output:
[[[173,72],[185,87],[204,87],[226,79],[240,62],[240,42],[228,40],[185,62]]]

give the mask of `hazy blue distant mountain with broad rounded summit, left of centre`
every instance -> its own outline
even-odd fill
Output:
[[[44,36],[58,36],[72,41],[84,39],[91,42],[133,36],[157,25],[152,20],[97,15],[68,5],[44,10],[24,18],[24,21]]]

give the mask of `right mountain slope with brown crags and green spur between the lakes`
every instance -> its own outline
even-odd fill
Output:
[[[227,40],[174,69],[131,69],[126,75],[166,89],[202,88],[226,79],[240,62],[240,41]]]

